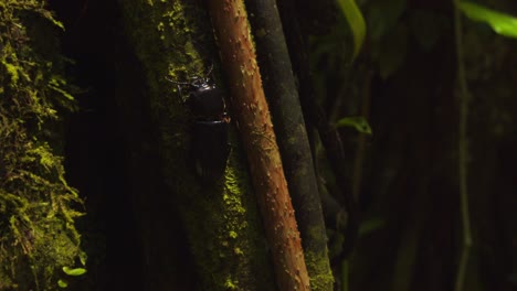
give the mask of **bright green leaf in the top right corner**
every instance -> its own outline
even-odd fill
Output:
[[[467,18],[487,23],[497,34],[517,39],[517,18],[468,1],[455,1],[455,4]]]

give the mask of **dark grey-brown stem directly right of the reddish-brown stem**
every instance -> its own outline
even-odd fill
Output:
[[[333,290],[318,185],[304,116],[275,0],[247,1],[264,90],[287,179],[313,290]]]

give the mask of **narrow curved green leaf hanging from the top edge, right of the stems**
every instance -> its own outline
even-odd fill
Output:
[[[354,57],[359,54],[365,42],[366,24],[362,13],[355,0],[338,0],[339,8],[347,19],[348,25],[354,34]]]

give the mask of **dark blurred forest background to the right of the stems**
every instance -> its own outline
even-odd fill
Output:
[[[483,1],[516,14],[509,1]],[[363,1],[367,40],[351,64],[339,19],[312,42],[328,116],[363,116],[373,134],[341,131],[362,227],[350,290],[452,290],[462,250],[458,89],[451,1]],[[473,247],[465,290],[514,290],[517,180],[516,41],[463,21],[471,90],[467,144]],[[348,40],[348,42],[346,41]],[[357,170],[362,169],[362,176]],[[358,175],[359,174],[359,175]],[[326,181],[331,181],[331,176]],[[328,188],[334,187],[333,182]]]

